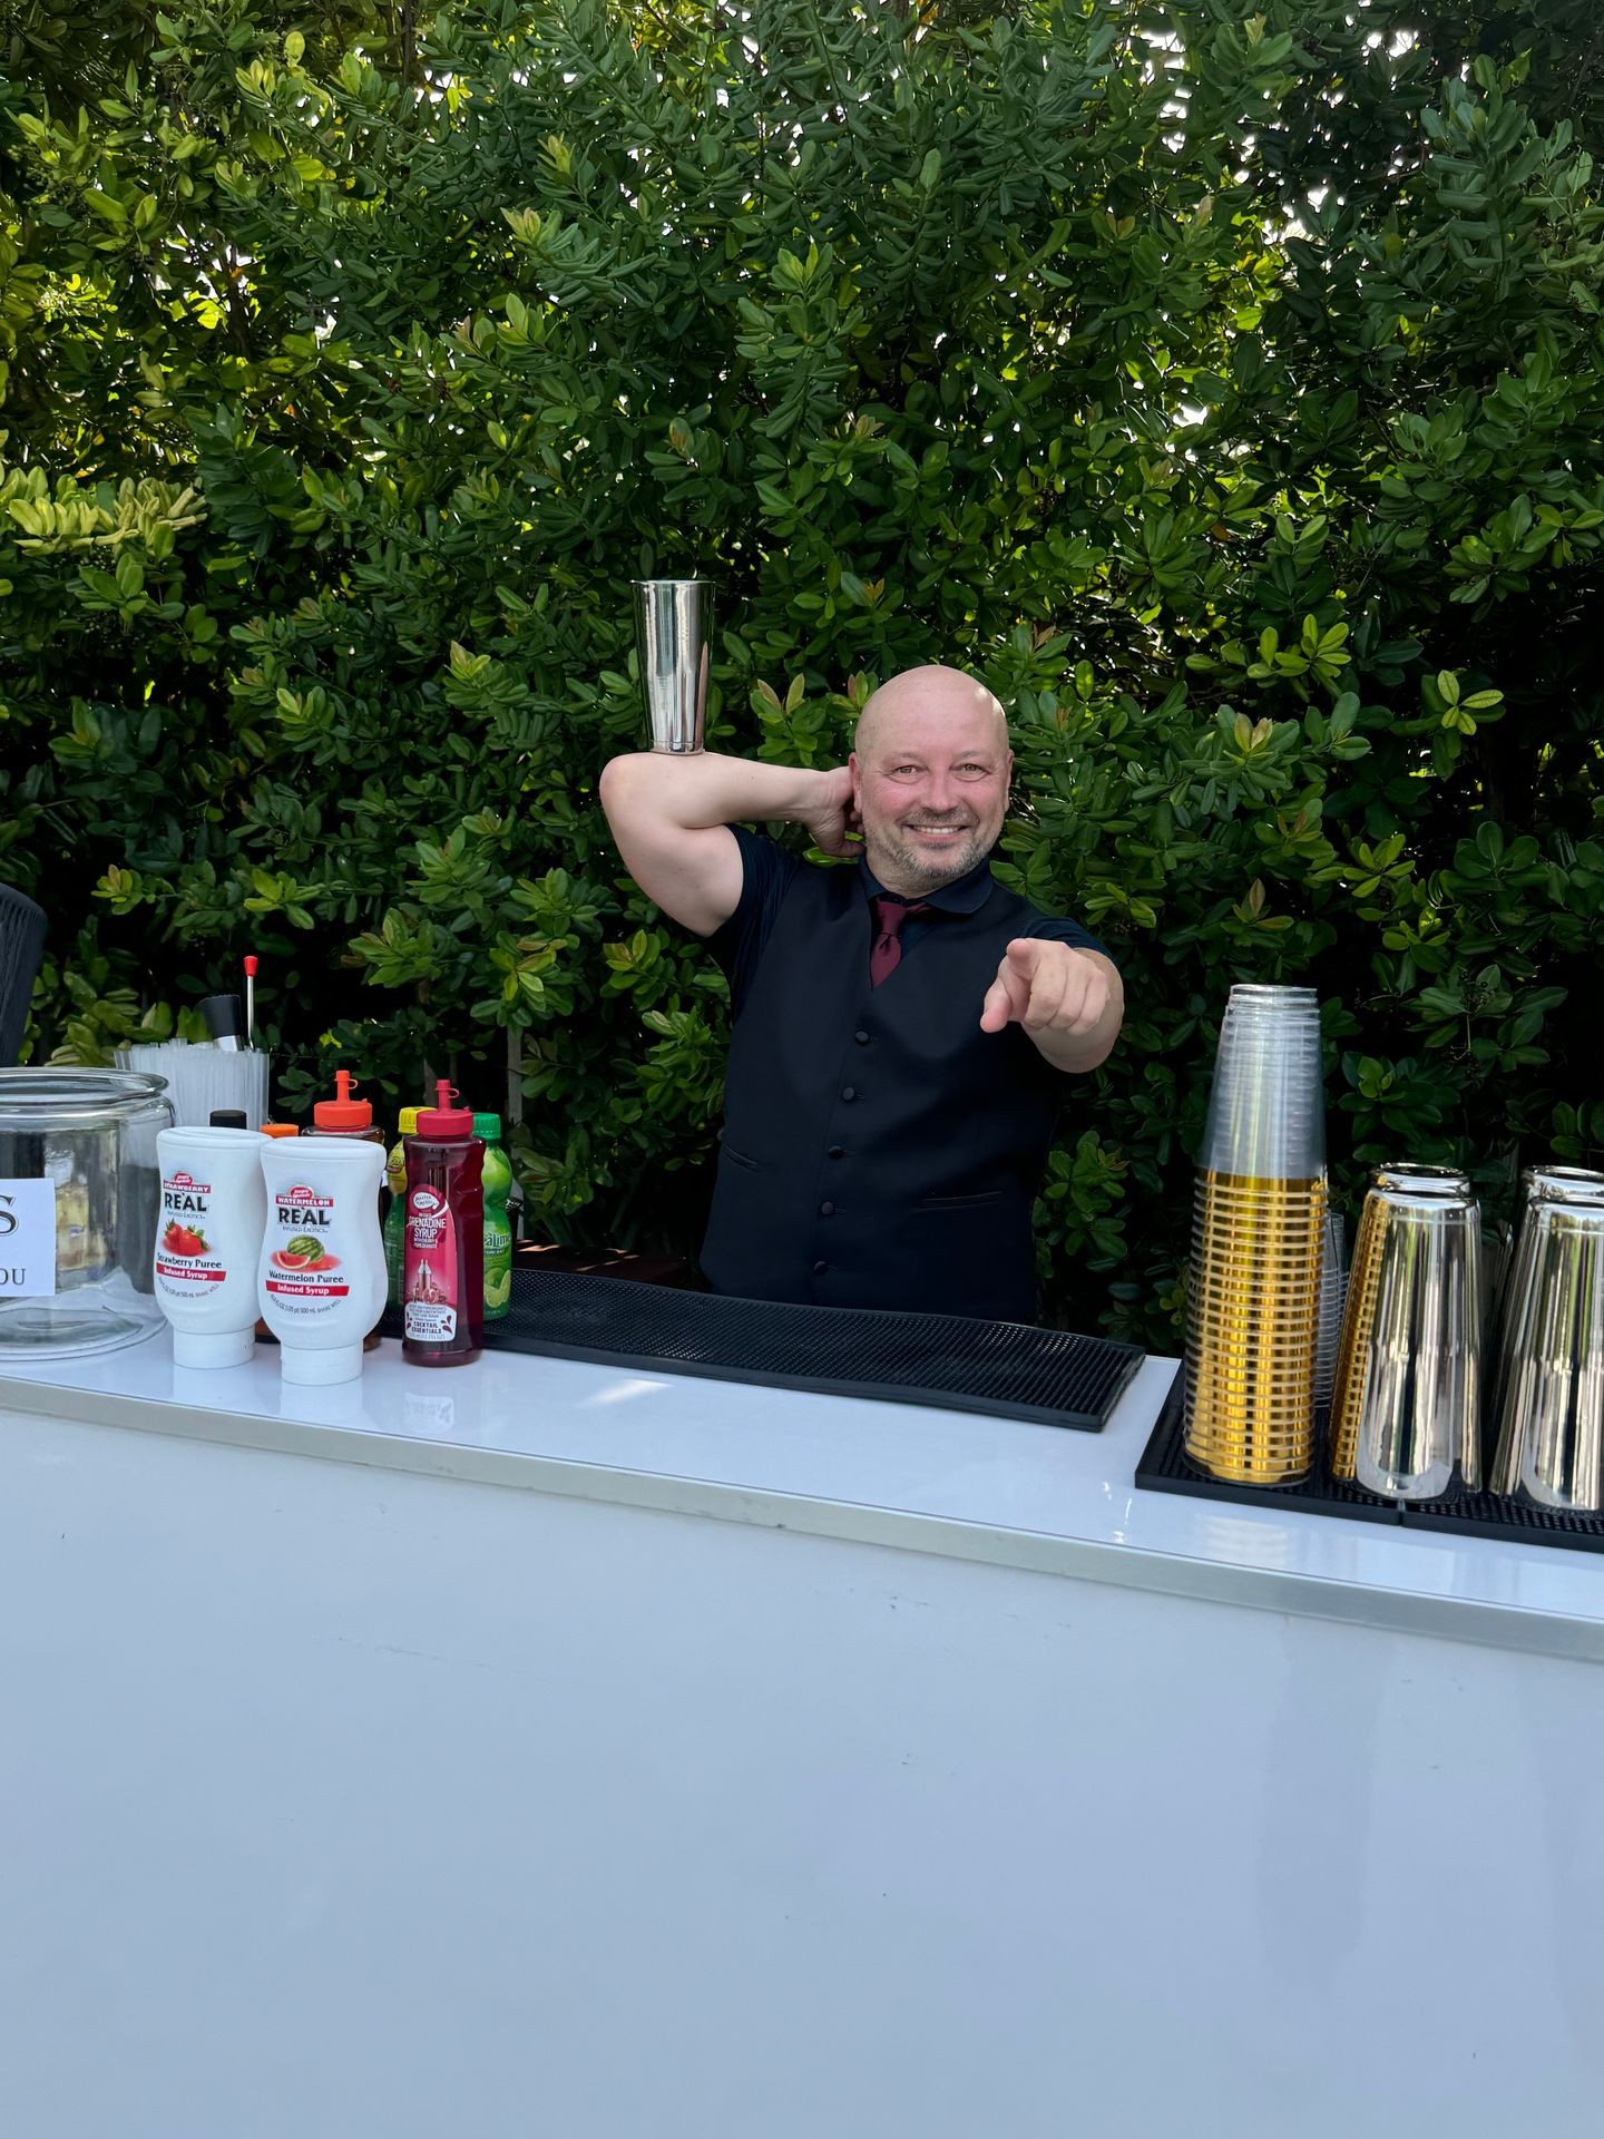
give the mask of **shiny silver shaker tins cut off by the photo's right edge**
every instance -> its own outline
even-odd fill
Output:
[[[1604,1508],[1604,1174],[1525,1174],[1493,1395],[1493,1489]]]

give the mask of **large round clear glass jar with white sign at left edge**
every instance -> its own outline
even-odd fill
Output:
[[[165,1093],[165,1078],[126,1070],[0,1070],[0,1209],[36,1213],[28,1191],[41,1181],[56,1209],[53,1266],[49,1241],[41,1253],[34,1238],[28,1292],[9,1290],[17,1258],[0,1243],[0,1360],[111,1352],[163,1326],[152,1253]]]

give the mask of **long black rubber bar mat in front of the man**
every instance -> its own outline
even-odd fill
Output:
[[[385,1335],[400,1335],[398,1309],[385,1315]],[[1136,1345],[1020,1322],[789,1307],[573,1271],[513,1271],[511,1311],[490,1324],[485,1350],[924,1403],[1082,1433],[1108,1425],[1142,1365]]]

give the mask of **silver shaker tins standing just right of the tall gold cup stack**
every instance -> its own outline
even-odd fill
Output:
[[[1388,1499],[1480,1484],[1482,1215],[1465,1174],[1377,1170],[1332,1392],[1337,1478]]]

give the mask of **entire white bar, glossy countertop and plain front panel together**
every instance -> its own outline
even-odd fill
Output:
[[[1593,2139],[1604,1559],[492,1354],[0,1373],[0,2130]]]

